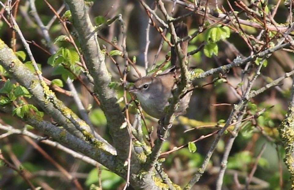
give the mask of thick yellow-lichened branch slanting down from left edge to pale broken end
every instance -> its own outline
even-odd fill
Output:
[[[87,132],[91,132],[90,127],[77,117],[72,110],[67,108],[63,102],[57,99],[56,95],[49,89],[45,82],[37,80],[35,75],[22,64],[15,54],[13,54],[12,50],[1,39],[0,64],[12,74],[17,82],[28,89],[33,95],[34,101],[46,111],[47,114],[53,117],[59,125],[63,126],[66,130],[79,138],[83,139],[84,136],[92,138],[91,134],[86,134]],[[76,130],[76,128],[79,128],[80,131]],[[99,137],[97,141],[103,144],[101,148],[105,151],[115,154],[114,148],[107,143],[106,140]]]

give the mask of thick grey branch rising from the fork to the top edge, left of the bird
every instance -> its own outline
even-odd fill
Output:
[[[88,6],[84,1],[66,0],[73,17],[73,25],[79,35],[81,48],[85,57],[87,68],[94,78],[94,91],[98,94],[101,102],[101,109],[107,119],[111,135],[114,140],[114,147],[121,159],[128,157],[129,135],[127,129],[119,129],[125,121],[117,102],[117,94],[114,89],[108,87],[111,82],[110,73],[105,65],[105,56],[101,52],[97,40],[95,28],[91,24],[88,15]]]

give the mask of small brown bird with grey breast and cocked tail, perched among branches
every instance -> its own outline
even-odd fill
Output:
[[[176,26],[176,33],[179,38],[184,38],[188,35],[187,25],[180,23]],[[187,59],[188,41],[180,43],[184,60]],[[134,86],[129,90],[137,95],[143,110],[152,117],[162,119],[166,114],[164,108],[169,105],[168,99],[172,97],[172,89],[177,88],[175,77],[180,76],[179,59],[177,58],[174,47],[171,48],[171,65],[173,69],[166,70],[158,76],[145,76],[138,79]],[[176,70],[174,70],[176,69]],[[186,113],[192,91],[188,92],[181,100],[176,116]]]

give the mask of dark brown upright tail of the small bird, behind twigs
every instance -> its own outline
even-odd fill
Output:
[[[184,38],[184,37],[188,36],[188,28],[185,23],[178,23],[175,26],[175,29],[176,29],[176,34],[179,38]],[[173,41],[173,40],[171,40],[171,41]],[[188,40],[181,42],[180,47],[181,47],[181,53],[184,55],[183,61],[186,61],[187,51],[188,51]],[[179,68],[180,67],[180,60],[177,56],[177,52],[176,52],[175,47],[171,47],[170,53],[171,53],[171,55],[170,55],[171,65],[172,66],[175,65],[176,68]]]

